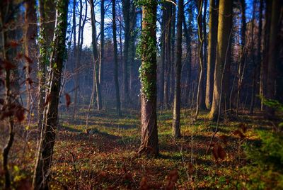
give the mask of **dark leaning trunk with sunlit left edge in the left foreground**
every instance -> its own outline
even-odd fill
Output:
[[[40,1],[40,6],[42,1]],[[61,73],[65,55],[65,40],[67,31],[68,1],[57,1],[56,29],[54,32],[54,48],[50,57],[50,88],[46,96],[47,108],[44,115],[44,125],[40,135],[40,145],[37,150],[35,172],[33,176],[33,189],[47,189],[47,181],[52,164],[53,147],[55,143],[55,130],[58,122],[59,91],[61,86]]]

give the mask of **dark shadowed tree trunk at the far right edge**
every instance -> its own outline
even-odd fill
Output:
[[[267,67],[267,99],[275,99],[276,97],[276,69],[279,65],[279,33],[280,33],[280,11],[282,11],[282,1],[272,1],[271,23],[270,23],[270,40],[268,51],[268,67]],[[268,118],[274,118],[275,108],[267,107],[266,114]]]

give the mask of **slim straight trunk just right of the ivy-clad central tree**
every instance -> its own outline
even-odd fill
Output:
[[[173,136],[180,138],[180,96],[181,96],[181,67],[182,67],[182,23],[184,16],[184,1],[178,1],[178,21],[176,36],[176,60],[175,60],[175,90],[173,108]]]

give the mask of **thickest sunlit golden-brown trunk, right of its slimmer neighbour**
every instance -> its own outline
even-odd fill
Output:
[[[229,52],[231,28],[232,28],[232,1],[219,1],[219,18],[217,34],[217,52],[214,69],[214,89],[212,108],[209,112],[209,119],[216,120],[221,112],[221,95],[226,58]]]

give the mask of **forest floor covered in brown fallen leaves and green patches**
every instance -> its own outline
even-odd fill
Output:
[[[85,110],[76,116],[76,123],[71,122],[71,114],[62,114],[54,147],[51,189],[170,189],[172,185],[175,189],[236,189],[244,185],[248,179],[242,171],[246,164],[243,145],[258,138],[255,130],[264,130],[265,121],[247,114],[237,121],[221,121],[214,147],[206,153],[216,123],[207,120],[207,112],[201,112],[193,122],[189,110],[181,113],[183,136],[174,140],[172,111],[158,111],[160,156],[156,158],[137,155],[139,111],[123,110],[121,118],[116,117],[114,109],[94,111],[88,129]],[[243,124],[248,129],[246,133]],[[29,186],[35,162],[36,128],[25,125],[17,128],[10,154],[16,189]],[[1,130],[2,134],[7,133]],[[5,142],[6,138],[1,138],[1,147]]]

